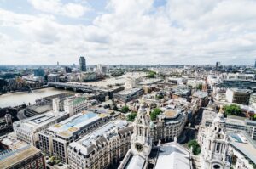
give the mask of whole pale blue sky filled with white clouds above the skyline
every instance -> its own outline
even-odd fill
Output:
[[[0,65],[253,64],[255,0],[0,0]]]

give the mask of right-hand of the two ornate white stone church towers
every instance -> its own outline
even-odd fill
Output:
[[[223,113],[216,115],[211,127],[200,128],[198,141],[201,145],[201,169],[230,169],[229,138]]]

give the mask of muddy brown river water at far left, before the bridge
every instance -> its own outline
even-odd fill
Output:
[[[49,88],[33,90],[32,93],[27,93],[27,92],[7,93],[0,96],[0,108],[20,105],[24,103],[34,104],[36,99],[40,99],[40,98],[44,98],[50,95],[55,95],[60,93],[74,93],[74,92],[56,89],[54,87],[49,87]]]

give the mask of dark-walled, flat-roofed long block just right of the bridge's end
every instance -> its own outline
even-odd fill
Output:
[[[131,88],[119,93],[113,94],[113,99],[119,101],[120,103],[127,103],[133,99],[138,99],[143,95],[143,88]]]

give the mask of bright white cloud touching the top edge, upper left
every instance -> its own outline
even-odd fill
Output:
[[[40,11],[49,14],[61,14],[68,17],[77,18],[83,16],[90,10],[88,6],[79,3],[61,3],[61,0],[28,0],[32,6]]]

